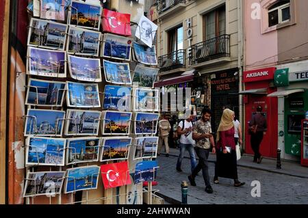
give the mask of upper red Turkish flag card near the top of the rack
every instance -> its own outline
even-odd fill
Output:
[[[131,14],[103,10],[103,31],[122,36],[131,36]]]

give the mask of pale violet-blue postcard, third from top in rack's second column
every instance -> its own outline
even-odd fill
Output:
[[[101,82],[101,60],[68,55],[70,77],[79,81]]]

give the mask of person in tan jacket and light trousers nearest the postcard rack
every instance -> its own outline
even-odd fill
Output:
[[[162,120],[159,120],[158,122],[158,149],[157,149],[157,155],[160,154],[160,151],[162,150],[162,145],[164,143],[165,150],[166,150],[166,157],[169,156],[169,144],[168,144],[168,137],[169,137],[169,131],[171,129],[169,121],[166,119],[166,115],[162,115]]]

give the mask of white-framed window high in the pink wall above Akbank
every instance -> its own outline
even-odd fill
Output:
[[[268,27],[290,21],[290,0],[280,0],[268,8]]]

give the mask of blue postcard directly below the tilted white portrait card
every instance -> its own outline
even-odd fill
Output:
[[[157,66],[155,46],[147,47],[133,42],[133,51],[137,62],[146,65]]]

